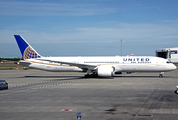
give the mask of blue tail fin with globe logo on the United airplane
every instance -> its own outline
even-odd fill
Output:
[[[23,59],[41,58],[41,55],[38,54],[22,36],[14,35],[14,37],[17,41]]]

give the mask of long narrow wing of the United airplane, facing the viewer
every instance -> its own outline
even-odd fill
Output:
[[[93,70],[97,66],[96,65],[90,65],[90,64],[82,64],[82,63],[74,63],[74,62],[66,62],[66,61],[58,61],[58,60],[52,60],[52,59],[44,59],[44,58],[36,58],[36,60],[41,60],[41,61],[49,61],[49,62],[54,62],[54,63],[60,63],[60,64],[67,64],[70,66],[77,66],[81,69],[90,69]]]

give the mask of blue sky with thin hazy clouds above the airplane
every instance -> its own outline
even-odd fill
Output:
[[[42,56],[155,56],[178,47],[177,6],[177,0],[0,0],[0,57],[21,57],[14,35]]]

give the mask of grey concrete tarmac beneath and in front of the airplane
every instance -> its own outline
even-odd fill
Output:
[[[0,120],[177,120],[178,70],[114,78],[84,73],[1,70]]]

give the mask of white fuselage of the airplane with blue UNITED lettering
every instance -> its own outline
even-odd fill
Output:
[[[51,61],[65,61],[93,66],[112,66],[114,72],[165,72],[175,70],[176,66],[168,60],[150,56],[114,57],[43,57],[43,60],[26,59],[19,64],[47,71],[83,72],[85,69]],[[48,61],[44,61],[47,59]],[[28,63],[28,64],[27,64]],[[91,68],[92,70],[93,68]],[[85,71],[86,72],[86,71]]]

